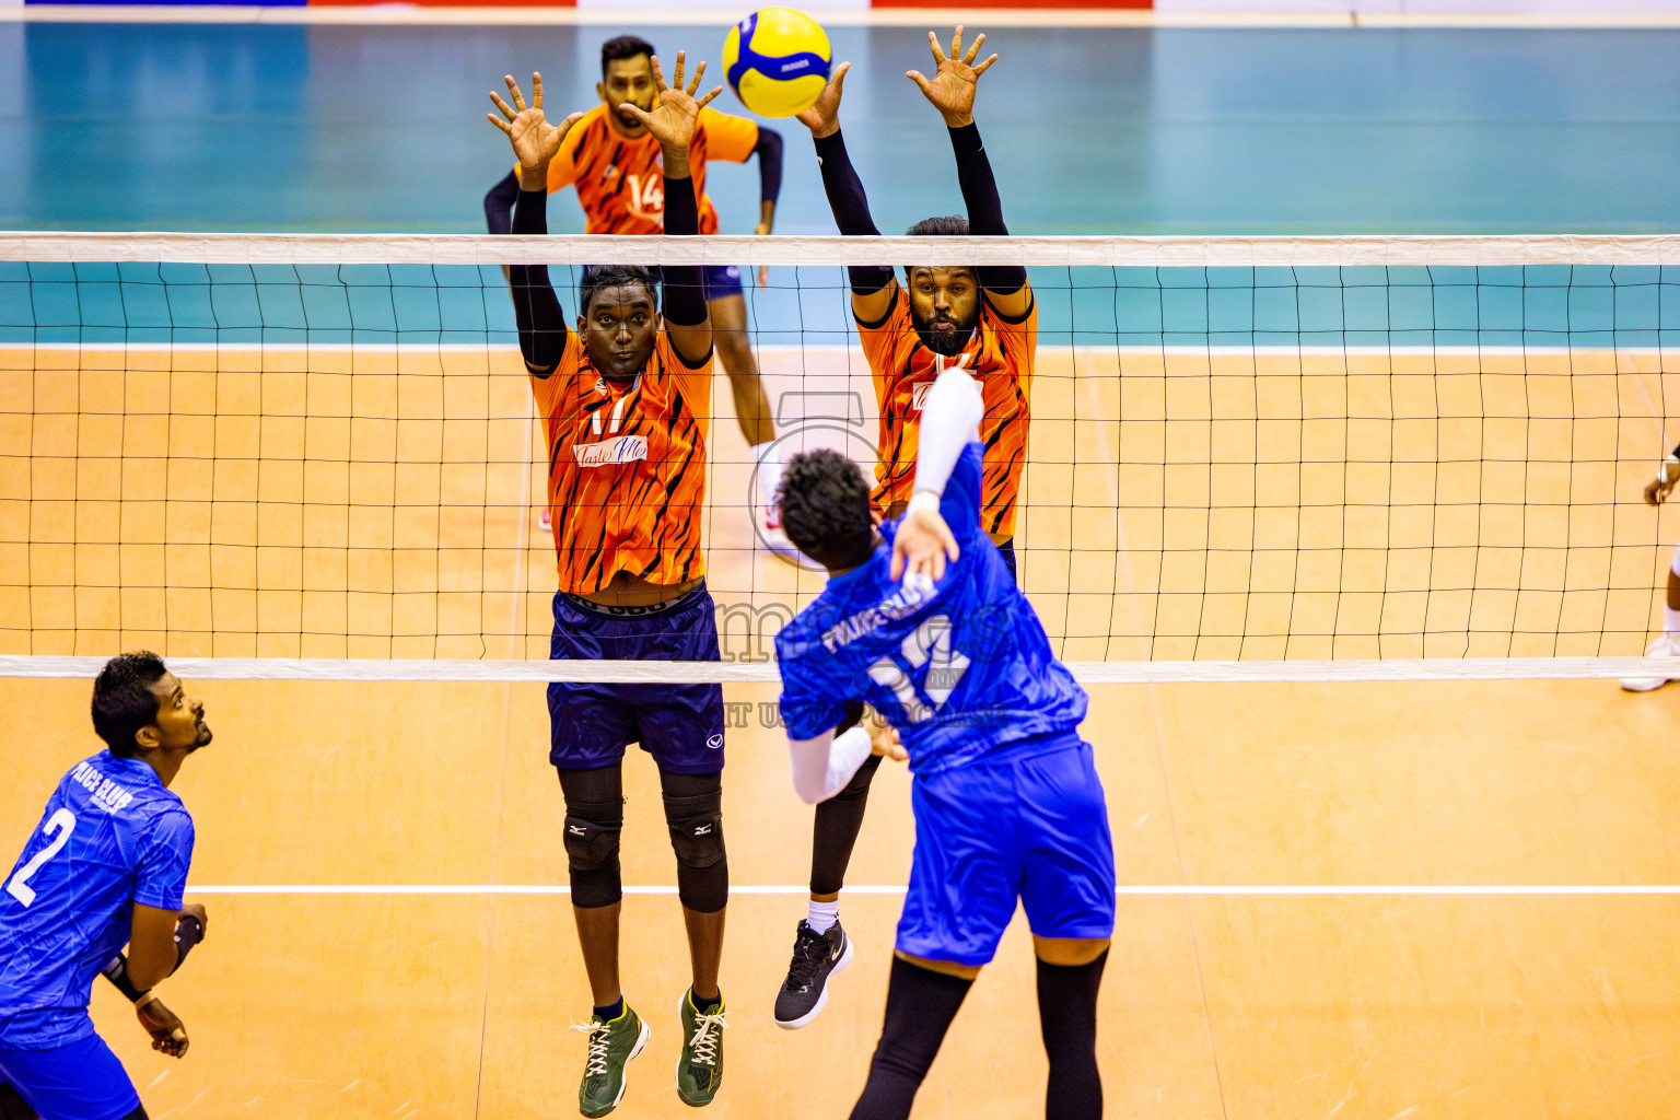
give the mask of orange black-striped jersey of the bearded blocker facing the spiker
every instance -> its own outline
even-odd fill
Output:
[[[1026,317],[1010,322],[979,301],[979,329],[958,358],[944,358],[922,346],[911,322],[911,297],[902,287],[880,326],[857,327],[864,356],[875,379],[880,401],[875,490],[870,500],[885,512],[909,502],[916,490],[916,450],[922,427],[922,400],[946,366],[968,368],[979,383],[986,413],[979,438],[986,445],[981,527],[1005,537],[1015,536],[1015,499],[1026,465],[1026,398],[1033,386],[1033,356],[1038,348],[1038,302]]]

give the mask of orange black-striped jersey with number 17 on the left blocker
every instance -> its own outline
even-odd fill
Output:
[[[548,432],[559,589],[600,591],[620,571],[664,584],[704,576],[712,359],[689,368],[660,331],[647,368],[620,386],[568,332],[559,366],[533,376],[531,393]]]

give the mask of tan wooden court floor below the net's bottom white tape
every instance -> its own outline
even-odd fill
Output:
[[[84,682],[0,685],[37,715],[0,836],[92,752]],[[163,989],[193,1048],[144,1046],[101,984],[94,1018],[153,1117],[571,1115],[588,1014],[563,895],[563,804],[533,685],[208,682],[217,739],[176,791],[198,823],[190,897],[210,935]],[[763,687],[726,688],[768,699]],[[1099,685],[1097,749],[1124,888],[1680,882],[1680,690],[1608,682]],[[845,1117],[879,1033],[895,895],[845,895],[857,962],[810,1028],[774,1028],[810,809],[774,732],[732,732],[739,893],[714,1115]],[[902,885],[907,777],[884,769],[853,858]],[[674,883],[657,779],[627,766],[625,882]],[[351,893],[286,888],[363,885]],[[259,893],[227,893],[228,887]],[[265,888],[265,890],[264,890]],[[625,1117],[692,1115],[672,1086],[685,986],[677,902],[625,905],[625,991],[654,1041]],[[1675,895],[1122,893],[1100,1004],[1110,1117],[1625,1118],[1680,1088]],[[922,1091],[921,1117],[1038,1115],[1020,919]]]

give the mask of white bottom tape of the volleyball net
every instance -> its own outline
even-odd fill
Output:
[[[781,683],[774,662],[536,662],[171,657],[185,680],[546,683]],[[99,675],[102,657],[5,655],[0,678]],[[1406,680],[1614,680],[1648,677],[1645,657],[1383,658],[1344,662],[1065,662],[1084,685],[1356,683]]]

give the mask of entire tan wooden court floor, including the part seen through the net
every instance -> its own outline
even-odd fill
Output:
[[[29,526],[22,541],[5,531],[7,652],[546,652],[551,559],[531,541],[521,378],[486,376],[482,356],[475,371],[460,358],[459,373],[410,381],[395,368],[351,374],[311,359],[289,374],[262,371],[264,356],[255,369],[212,358],[208,371],[180,354],[77,356],[54,371],[30,356],[27,400],[5,381],[5,447],[30,447],[22,465],[5,457],[0,479],[0,524],[25,514]],[[835,379],[823,391],[867,391],[843,356],[820,361]],[[1025,583],[1070,660],[1643,645],[1662,541],[1680,522],[1631,502],[1665,447],[1665,388],[1672,400],[1680,386],[1628,356],[1514,368],[1482,356],[1457,373],[1384,358],[1369,374],[1304,358],[1294,369],[1107,361],[1047,361],[1033,393]],[[136,368],[148,363],[163,368]],[[91,406],[101,393],[113,406]],[[746,455],[717,396],[714,594],[798,603],[816,581],[751,547],[738,497]],[[852,438],[845,408],[838,442]],[[422,507],[425,526],[405,514]],[[450,569],[452,549],[475,559]],[[111,586],[113,566],[134,579]],[[423,608],[405,615],[413,601]],[[541,688],[198,692],[217,741],[176,789],[198,821],[192,897],[212,927],[163,994],[192,1053],[151,1053],[121,1001],[94,992],[151,1115],[571,1115],[581,1036],[568,1026],[588,996],[568,900],[484,893],[566,882]],[[1107,1115],[1673,1115],[1680,897],[1509,888],[1680,883],[1668,749],[1680,687],[1090,692],[1084,735],[1122,885],[1099,1024]],[[754,712],[773,695],[726,687]],[[97,742],[86,682],[5,680],[0,697],[40,720],[8,752],[0,838],[17,850],[50,784]],[[900,897],[843,897],[857,962],[813,1026],[776,1029],[810,809],[791,794],[780,730],[751,719],[727,751],[738,893],[727,1073],[711,1112],[843,1117],[879,1033]],[[882,771],[848,877],[857,888],[906,882],[906,786],[902,769]],[[645,757],[627,766],[627,793],[625,882],[669,888]],[[1304,893],[1324,887],[1359,890]],[[632,895],[625,929],[627,996],[654,1041],[620,1115],[694,1115],[672,1085],[687,971],[675,898]],[[1032,976],[1016,922],[917,1115],[1042,1112]]]

